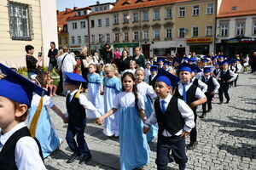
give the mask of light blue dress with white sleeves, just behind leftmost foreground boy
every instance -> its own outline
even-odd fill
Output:
[[[40,96],[38,94],[34,94],[32,98],[32,105],[29,109],[28,114],[28,125],[30,125],[32,121],[32,117],[38,109],[38,104],[40,101]],[[51,152],[57,150],[61,144],[61,139],[58,138],[55,127],[49,118],[49,112],[47,107],[52,107],[54,102],[50,99],[49,96],[44,95],[43,108],[38,119],[38,126],[36,130],[36,138],[41,144],[41,148],[43,151],[44,158],[49,156]]]

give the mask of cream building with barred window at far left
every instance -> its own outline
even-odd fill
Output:
[[[34,55],[41,52],[43,65],[48,65],[49,42],[58,42],[55,0],[3,0],[0,11],[0,62],[26,66],[25,46],[30,44]]]

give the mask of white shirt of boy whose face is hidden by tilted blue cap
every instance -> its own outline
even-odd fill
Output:
[[[71,95],[71,99],[73,99],[73,95],[78,92],[78,89],[74,90]],[[79,104],[84,106],[85,111],[90,111],[93,113],[96,118],[101,116],[101,114],[96,110],[95,106],[86,98],[84,94],[79,94]],[[84,113],[85,114],[85,113]]]

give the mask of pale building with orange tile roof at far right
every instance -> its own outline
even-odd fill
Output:
[[[216,49],[226,55],[252,54],[256,47],[256,2],[219,1]]]

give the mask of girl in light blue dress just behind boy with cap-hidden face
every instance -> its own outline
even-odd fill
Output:
[[[103,77],[96,73],[96,65],[90,64],[88,79],[88,100],[96,107],[96,110],[100,112],[101,115],[104,114],[104,101],[103,101]],[[90,111],[87,112],[88,118],[92,118],[93,115]]]

